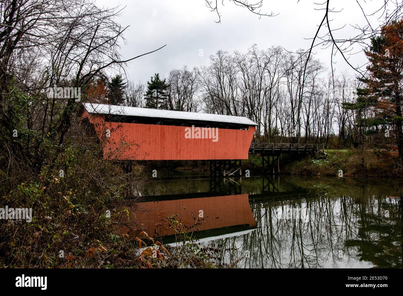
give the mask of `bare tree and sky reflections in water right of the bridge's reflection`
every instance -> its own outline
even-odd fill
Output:
[[[351,191],[252,201],[258,229],[216,241],[227,250],[222,260],[243,257],[238,266],[252,268],[403,267],[401,190],[393,198]],[[309,219],[279,218],[287,207],[309,209]]]

